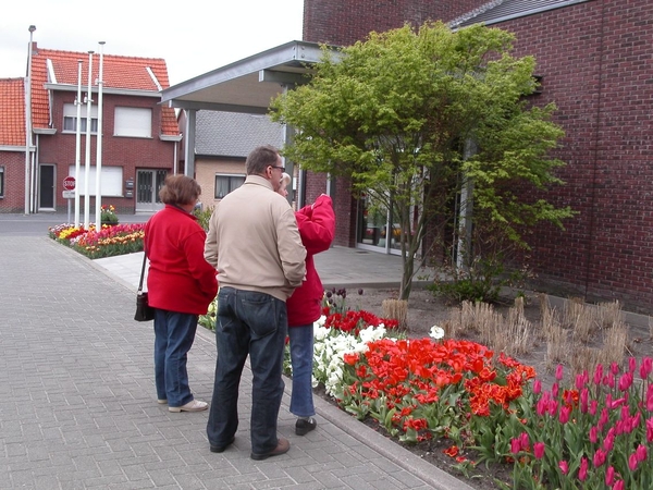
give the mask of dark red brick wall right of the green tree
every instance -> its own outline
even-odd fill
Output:
[[[653,299],[653,4],[593,1],[500,25],[533,54],[542,102],[566,136],[567,182],[547,196],[580,215],[537,230],[541,282],[651,311]]]

